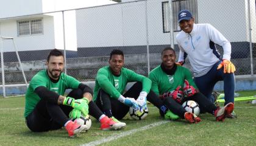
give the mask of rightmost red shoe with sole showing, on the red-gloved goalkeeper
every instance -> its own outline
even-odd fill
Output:
[[[215,110],[215,117],[216,117],[216,121],[224,121],[224,119],[232,113],[234,109],[234,104],[232,102],[227,103],[227,105],[225,105],[222,108],[218,108]]]

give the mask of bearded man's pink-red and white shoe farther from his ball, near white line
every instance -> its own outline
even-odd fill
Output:
[[[101,130],[119,130],[126,125],[122,122],[115,122],[113,119],[108,118],[107,116],[101,119]]]

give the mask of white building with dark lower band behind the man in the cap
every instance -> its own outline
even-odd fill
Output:
[[[90,56],[93,53],[95,55],[95,52],[104,55],[105,52],[100,52],[100,50],[104,49],[109,52],[114,48],[124,49],[126,54],[146,53],[147,30],[151,52],[159,52],[163,47],[169,46],[172,39],[176,44],[177,31],[173,38],[169,34],[168,0],[148,0],[147,7],[145,1],[123,0],[122,2],[127,3],[76,11],[76,16],[79,18],[76,19],[79,55]],[[186,5],[186,2],[190,6]],[[252,43],[256,43],[255,1],[250,2]],[[177,27],[179,10],[190,9],[196,17],[196,23],[212,24],[232,43],[234,52],[241,53],[240,57],[248,57],[247,0],[190,0],[181,1],[180,4],[179,1],[174,1],[172,7],[174,7],[174,31],[179,30]],[[241,50],[241,46],[247,47]]]

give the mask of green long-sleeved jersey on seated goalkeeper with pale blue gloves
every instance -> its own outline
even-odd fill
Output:
[[[147,93],[151,89],[151,80],[149,78],[137,74],[130,69],[122,68],[119,76],[113,75],[109,66],[99,69],[95,81],[93,101],[96,101],[99,89],[103,89],[110,97],[118,99],[124,93],[124,89],[126,89],[126,85],[129,82],[141,82],[143,86],[142,91]]]

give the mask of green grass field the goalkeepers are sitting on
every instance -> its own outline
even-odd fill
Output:
[[[240,97],[256,95],[256,91],[239,93]],[[92,118],[93,125],[87,133],[69,138],[63,128],[44,133],[29,131],[23,117],[24,97],[0,97],[0,145],[85,145],[109,137],[113,141],[100,145],[255,145],[256,105],[247,102],[235,102],[237,119],[215,122],[211,114],[201,114],[202,122],[197,124],[163,120],[158,109],[149,104],[148,117],[137,121],[127,115],[122,120],[127,123],[123,130],[102,131],[99,122]],[[163,121],[166,123],[148,126]]]

